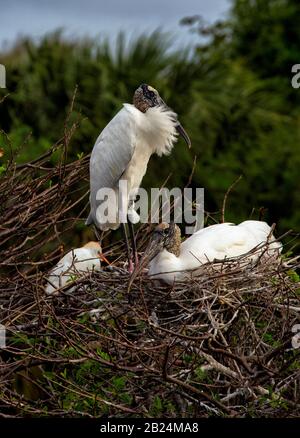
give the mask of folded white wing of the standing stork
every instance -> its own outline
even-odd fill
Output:
[[[95,223],[96,209],[103,201],[96,199],[101,188],[117,190],[118,182],[130,162],[136,144],[136,123],[131,105],[126,105],[103,129],[90,160],[90,206],[87,225]]]

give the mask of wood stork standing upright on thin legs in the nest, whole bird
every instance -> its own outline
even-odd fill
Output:
[[[157,90],[141,84],[134,93],[133,105],[123,104],[123,108],[103,129],[94,145],[90,159],[90,214],[86,224],[93,223],[105,231],[115,230],[122,223],[130,270],[132,261],[125,223],[129,225],[137,263],[132,223],[138,222],[139,216],[134,210],[134,200],[151,155],[169,154],[177,134],[191,146],[177,114],[165,104]],[[120,181],[126,183],[125,192],[119,189]],[[107,188],[113,190],[114,196],[103,199],[100,189]],[[104,202],[107,208],[103,211],[101,205],[103,207]],[[121,206],[123,220],[119,217]]]

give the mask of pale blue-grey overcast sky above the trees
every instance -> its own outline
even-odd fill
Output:
[[[112,40],[119,30],[137,34],[162,27],[184,45],[195,37],[178,26],[181,18],[198,14],[213,22],[229,6],[230,0],[0,0],[0,46],[58,27],[68,35],[105,34]]]

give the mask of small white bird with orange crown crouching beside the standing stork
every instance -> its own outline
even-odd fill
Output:
[[[81,248],[69,251],[47,278],[46,294],[51,295],[57,292],[57,289],[64,287],[82,273],[100,271],[100,254],[101,246],[98,242],[88,242]]]

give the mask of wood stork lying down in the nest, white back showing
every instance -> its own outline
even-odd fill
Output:
[[[267,248],[264,244],[268,244]],[[268,256],[278,256],[281,252],[282,245],[275,240],[266,222],[248,220],[239,225],[211,225],[182,243],[180,228],[162,223],[156,227],[145,253],[150,260],[148,275],[173,284],[187,278],[186,271],[207,262],[242,256],[256,247],[249,259],[257,259],[263,251]]]

